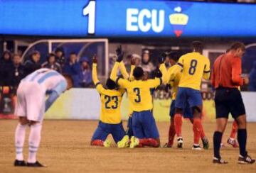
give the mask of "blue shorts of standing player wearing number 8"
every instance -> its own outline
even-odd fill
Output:
[[[175,107],[186,108],[186,104],[192,108],[193,106],[203,105],[201,91],[196,89],[178,87],[178,94],[176,96]]]

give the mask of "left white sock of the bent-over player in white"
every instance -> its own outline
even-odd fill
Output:
[[[16,147],[16,160],[23,159],[23,145],[26,135],[26,125],[18,123],[15,131],[15,147]]]

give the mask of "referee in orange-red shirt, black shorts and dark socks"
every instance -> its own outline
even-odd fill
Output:
[[[213,163],[226,164],[220,157],[220,143],[223,132],[228,122],[228,114],[231,113],[238,123],[238,143],[240,155],[238,163],[252,164],[255,162],[246,151],[246,115],[239,86],[248,84],[248,78],[242,78],[241,57],[245,52],[243,43],[233,43],[230,51],[220,55],[214,62],[212,84],[215,88],[215,110],[217,128],[213,135],[214,158]]]

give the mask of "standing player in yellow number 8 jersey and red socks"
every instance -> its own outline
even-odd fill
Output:
[[[201,55],[203,52],[203,44],[201,42],[193,42],[191,49],[193,52],[180,57],[172,72],[167,74],[167,79],[172,81],[182,70],[181,79],[178,83],[174,116],[178,147],[183,145],[183,138],[181,136],[182,115],[188,103],[193,111],[194,144],[192,149],[201,150],[199,139],[203,128],[201,123],[203,101],[200,87],[202,78],[209,79],[210,77],[210,61],[207,57]]]

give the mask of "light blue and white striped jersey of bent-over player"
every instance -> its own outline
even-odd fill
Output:
[[[43,92],[56,91],[59,95],[66,90],[68,85],[63,75],[46,68],[28,74],[21,82],[36,82],[41,86]]]

